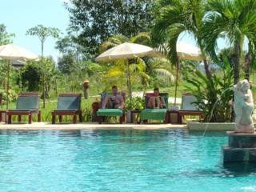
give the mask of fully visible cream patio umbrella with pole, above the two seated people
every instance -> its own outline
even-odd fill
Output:
[[[118,46],[114,46],[110,50],[106,50],[100,54],[96,61],[98,62],[110,62],[118,59],[126,60],[127,78],[128,78],[128,91],[131,98],[131,86],[130,86],[130,67],[128,60],[131,58],[142,58],[145,56],[154,55],[154,50],[149,46],[143,46],[136,43],[124,42]]]

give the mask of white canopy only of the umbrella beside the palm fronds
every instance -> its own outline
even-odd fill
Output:
[[[192,46],[186,42],[178,42],[176,50],[180,59],[202,61],[202,54],[197,46]]]

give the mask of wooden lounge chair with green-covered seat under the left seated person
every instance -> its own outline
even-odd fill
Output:
[[[126,94],[121,93],[123,100],[126,102]],[[101,106],[103,101],[105,100],[106,96],[110,94],[102,94],[102,99],[101,99]],[[98,123],[102,124],[102,121],[106,119],[106,117],[119,117],[119,122],[122,124],[125,121],[125,112],[124,110],[121,109],[98,109],[97,111],[97,118],[98,118]]]

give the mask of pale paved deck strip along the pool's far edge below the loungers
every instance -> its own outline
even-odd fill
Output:
[[[83,122],[78,124],[62,123],[52,125],[50,122],[0,123],[0,130],[169,130],[185,129],[186,125],[176,124],[114,124],[99,125],[97,122]]]

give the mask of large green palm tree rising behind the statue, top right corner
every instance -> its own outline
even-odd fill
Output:
[[[217,39],[227,37],[233,47],[234,83],[240,78],[242,46],[249,40],[246,60],[246,77],[250,75],[250,63],[254,58],[256,34],[256,1],[254,0],[210,0],[206,5],[206,17],[202,26],[202,42],[205,50],[215,61]],[[249,69],[249,70],[248,70]],[[248,74],[249,73],[249,74]]]

